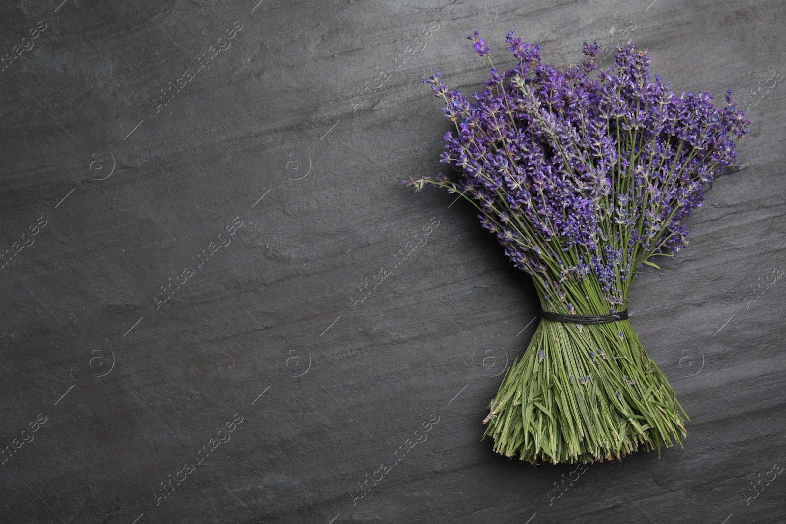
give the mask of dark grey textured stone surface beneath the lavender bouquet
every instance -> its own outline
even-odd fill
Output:
[[[0,251],[46,221],[0,270],[0,522],[784,522],[784,2],[61,1],[0,16],[3,55],[46,26],[0,72]],[[509,30],[566,66],[633,38],[675,92],[748,108],[744,169],[630,297],[684,448],[578,475],[481,440],[531,280],[468,204],[400,184],[450,129],[421,80],[488,74],[476,27],[500,66]]]

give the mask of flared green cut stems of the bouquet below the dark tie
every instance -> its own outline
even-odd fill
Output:
[[[577,286],[564,287],[570,300],[583,293]],[[601,303],[592,306],[579,311],[603,314]],[[669,446],[672,437],[680,442],[685,436],[687,418],[630,321],[541,320],[483,422],[489,424],[494,451],[538,464],[611,460]]]

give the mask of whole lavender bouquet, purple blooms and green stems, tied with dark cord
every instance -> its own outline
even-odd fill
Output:
[[[597,42],[582,68],[557,70],[539,46],[508,33],[516,58],[494,68],[478,31],[467,38],[491,63],[483,93],[427,82],[456,127],[440,173],[410,178],[458,192],[479,211],[517,268],[534,280],[542,318],[502,380],[483,420],[494,450],[540,462],[612,460],[681,445],[687,414],[630,326],[634,277],[688,244],[681,219],[703,206],[703,188],[736,160],[744,112],[715,108],[710,93],[670,92],[650,57],[628,42],[598,72]]]

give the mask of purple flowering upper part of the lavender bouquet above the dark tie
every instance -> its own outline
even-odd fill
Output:
[[[479,31],[467,38],[490,60]],[[582,68],[567,70],[544,64],[539,46],[512,31],[507,43],[518,63],[492,68],[482,93],[448,89],[439,70],[424,80],[456,127],[440,161],[460,175],[404,183],[443,185],[472,200],[505,254],[536,281],[567,291],[566,279],[592,274],[609,306],[623,306],[644,264],[688,243],[681,220],[703,206],[704,185],[733,165],[728,136],[747,135],[750,121],[731,90],[715,108],[710,93],[678,97],[659,75],[651,81],[650,57],[631,43],[617,47],[614,67],[598,80],[590,75],[597,42],[582,46]],[[559,302],[551,306],[566,312],[575,303]]]

